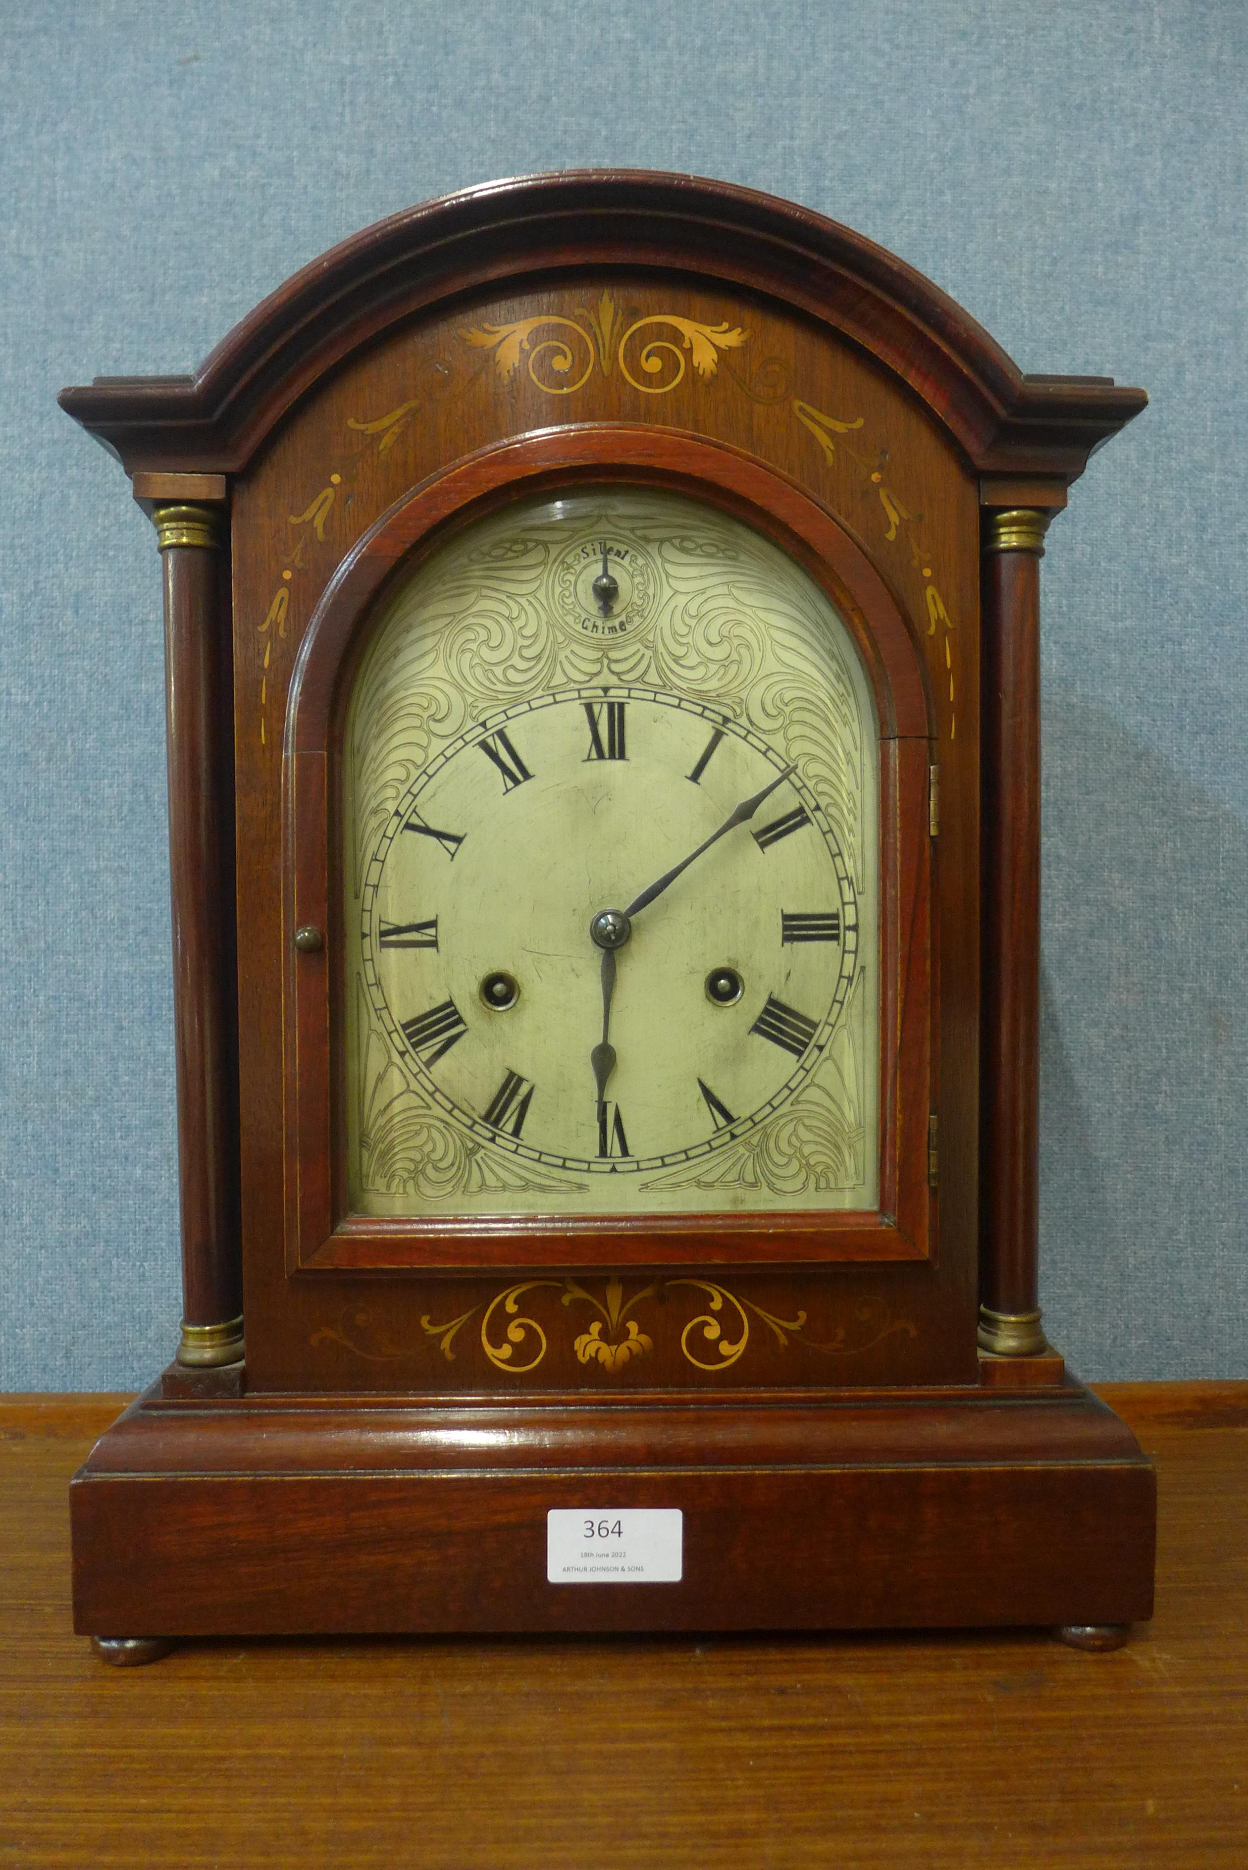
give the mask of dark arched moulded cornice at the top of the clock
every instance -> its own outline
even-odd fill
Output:
[[[612,267],[735,284],[812,316],[909,385],[980,475],[1065,488],[1147,402],[1111,378],[1023,374],[928,279],[823,215],[647,170],[498,181],[412,208],[296,273],[193,376],[97,378],[60,402],[127,473],[238,473],[299,396],[414,314]]]

